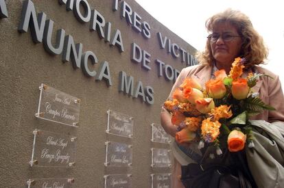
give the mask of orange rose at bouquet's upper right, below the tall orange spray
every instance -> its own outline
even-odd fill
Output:
[[[248,88],[248,82],[246,79],[237,79],[237,81],[232,82],[232,94],[233,97],[241,100],[248,96],[248,92],[250,88]]]

